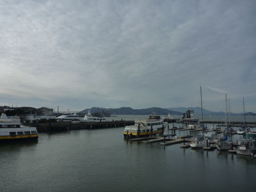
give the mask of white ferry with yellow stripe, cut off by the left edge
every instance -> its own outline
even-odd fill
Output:
[[[36,127],[20,125],[19,116],[6,116],[2,113],[0,118],[0,143],[37,140],[38,134]]]

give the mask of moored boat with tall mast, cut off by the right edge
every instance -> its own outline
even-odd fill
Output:
[[[244,103],[244,98],[243,98]],[[244,123],[246,136],[242,140],[241,145],[236,149],[236,153],[240,155],[252,155],[256,153],[256,133],[247,133],[246,119],[245,119],[245,109],[244,109]],[[249,136],[249,139],[248,139]]]

